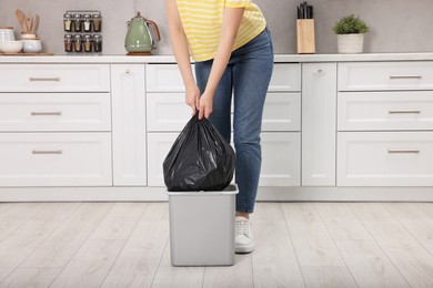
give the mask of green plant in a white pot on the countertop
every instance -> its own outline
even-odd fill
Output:
[[[339,53],[362,53],[364,33],[369,27],[354,14],[343,17],[333,27],[338,37]]]

